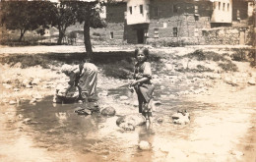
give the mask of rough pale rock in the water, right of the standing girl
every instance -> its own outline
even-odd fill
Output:
[[[186,110],[178,111],[177,113],[171,116],[174,124],[177,125],[186,125],[190,122],[189,113]]]

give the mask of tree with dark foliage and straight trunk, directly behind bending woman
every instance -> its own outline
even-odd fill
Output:
[[[72,1],[69,2],[73,12],[76,14],[77,21],[84,23],[84,42],[87,51],[87,58],[92,59],[93,49],[90,37],[90,27],[106,27],[103,20],[100,19],[101,4],[99,1]]]

